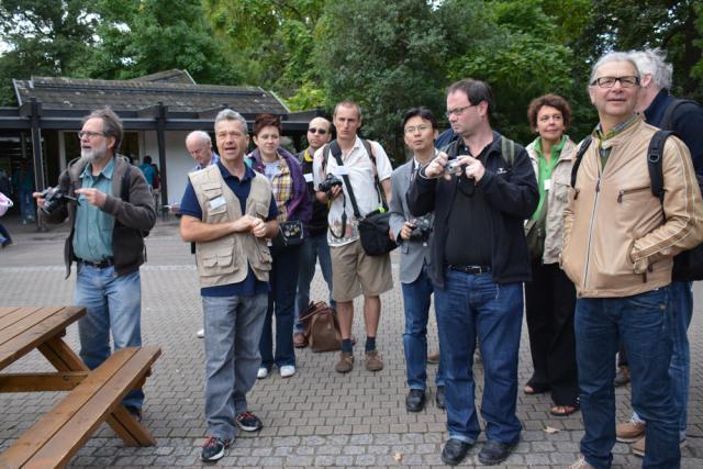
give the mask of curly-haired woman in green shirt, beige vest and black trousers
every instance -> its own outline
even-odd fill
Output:
[[[532,281],[525,283],[525,311],[534,373],[525,394],[551,391],[553,415],[579,410],[573,312],[576,289],[559,268],[562,213],[568,201],[576,144],[565,135],[569,103],[557,94],[533,100],[527,109],[537,138],[527,146],[539,187],[539,204],[525,225]]]

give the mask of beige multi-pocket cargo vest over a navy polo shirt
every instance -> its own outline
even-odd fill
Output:
[[[204,223],[234,222],[242,217],[239,199],[227,187],[217,165],[190,172],[188,177],[198,197]],[[221,203],[223,199],[225,203]],[[266,220],[270,203],[271,187],[266,178],[257,172],[252,179],[246,213]],[[266,239],[257,238],[248,232],[197,243],[196,259],[201,288],[244,281],[247,276],[247,263],[256,278],[261,281],[268,280],[268,272],[271,270],[271,254]]]

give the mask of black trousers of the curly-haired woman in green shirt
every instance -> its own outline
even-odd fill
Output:
[[[532,281],[525,283],[532,382],[548,386],[556,405],[571,405],[579,397],[574,309],[576,289],[559,265],[533,261]]]

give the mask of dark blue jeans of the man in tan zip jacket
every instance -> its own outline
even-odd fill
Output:
[[[629,360],[633,409],[647,422],[643,468],[678,468],[678,412],[669,364],[672,350],[670,288],[624,298],[580,298],[576,306],[577,364],[585,434],[581,453],[610,468],[615,444],[615,353],[620,339]]]

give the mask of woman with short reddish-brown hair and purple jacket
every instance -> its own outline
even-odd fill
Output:
[[[254,170],[263,174],[271,183],[281,227],[298,223],[299,228],[310,221],[312,205],[308,187],[298,158],[281,147],[281,120],[272,114],[259,114],[254,121],[256,149],[248,157]],[[272,239],[274,264],[269,273],[270,291],[264,332],[259,340],[261,365],[257,378],[266,378],[274,365],[282,378],[295,373],[293,349],[293,320],[295,291],[298,290],[298,261],[300,245],[287,243],[279,233]],[[276,314],[276,355],[274,355],[272,317]]]

